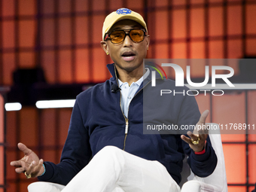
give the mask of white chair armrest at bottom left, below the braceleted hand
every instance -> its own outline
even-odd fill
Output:
[[[29,192],[59,192],[65,186],[62,184],[38,181],[32,184],[29,184],[28,190]]]

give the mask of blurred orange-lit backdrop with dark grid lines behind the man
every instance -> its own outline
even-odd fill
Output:
[[[99,42],[106,15],[118,8],[130,8],[145,18],[151,35],[148,58],[256,56],[255,0],[2,0],[0,8],[2,86],[14,84],[14,70],[35,67],[44,69],[49,84],[110,78],[105,66],[111,59]],[[231,67],[238,75],[239,66]],[[191,76],[204,77],[204,68],[192,65]],[[255,98],[256,91],[251,90],[221,97],[200,95],[197,101],[201,112],[211,109],[212,122],[254,123]],[[9,166],[23,157],[18,142],[44,160],[59,162],[71,112],[32,106],[6,112],[5,174],[0,157],[0,185],[3,177],[6,185],[0,192],[27,191],[27,185],[36,181]],[[222,141],[228,190],[251,192],[256,182],[256,136],[222,135]]]

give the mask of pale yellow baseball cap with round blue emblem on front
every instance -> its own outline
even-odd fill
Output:
[[[141,24],[148,32],[147,24],[145,23],[145,20],[140,14],[136,13],[135,11],[131,11],[130,9],[127,9],[127,8],[120,8],[120,9],[117,9],[117,11],[114,11],[111,14],[109,14],[107,17],[105,17],[105,21],[102,27],[103,40],[104,40],[105,34],[109,31],[109,29],[111,29],[111,26],[113,26],[114,23],[117,23],[117,21],[119,20],[134,20],[139,24]]]

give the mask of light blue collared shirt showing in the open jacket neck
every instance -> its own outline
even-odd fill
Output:
[[[135,93],[137,92],[139,87],[141,86],[143,79],[148,78],[149,69],[145,68],[145,70],[146,70],[146,72],[142,76],[142,78],[140,78],[136,82],[133,82],[133,84],[131,84],[130,86],[127,82],[123,83],[122,81],[120,81],[118,79],[118,84],[121,89],[120,90],[120,92],[121,92],[121,108],[122,108],[122,111],[123,111],[123,114],[125,115],[125,117],[127,117],[127,115],[128,115],[128,108],[129,108],[130,102],[133,99],[133,96],[135,95]]]

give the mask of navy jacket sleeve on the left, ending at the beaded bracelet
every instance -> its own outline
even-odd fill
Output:
[[[60,163],[44,162],[46,172],[38,179],[66,185],[89,163],[91,155],[89,134],[84,127],[77,99],[72,111],[69,134],[62,150]]]

